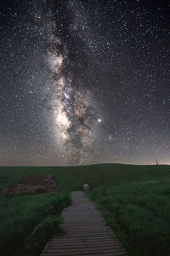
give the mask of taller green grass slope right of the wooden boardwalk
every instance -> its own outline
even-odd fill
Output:
[[[170,179],[94,189],[108,225],[131,256],[170,255]]]

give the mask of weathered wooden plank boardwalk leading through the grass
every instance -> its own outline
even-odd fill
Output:
[[[71,197],[72,205],[62,213],[66,234],[49,241],[42,256],[127,256],[94,203],[81,191]]]

